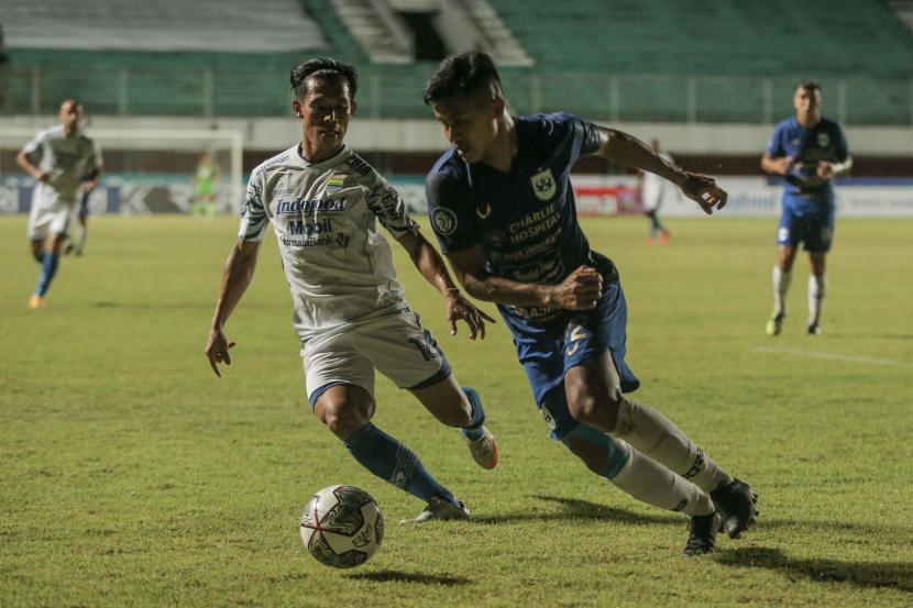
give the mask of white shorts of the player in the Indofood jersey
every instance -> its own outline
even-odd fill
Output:
[[[420,317],[409,309],[360,323],[301,347],[310,405],[330,387],[351,384],[374,396],[374,369],[399,388],[422,388],[450,376],[450,364]]]

